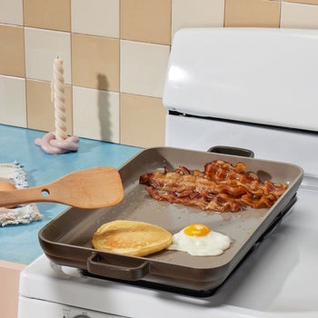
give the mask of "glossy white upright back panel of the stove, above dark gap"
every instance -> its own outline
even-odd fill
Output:
[[[164,106],[318,131],[318,31],[194,28],[174,35]]]

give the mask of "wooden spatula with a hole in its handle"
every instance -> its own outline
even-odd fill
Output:
[[[66,174],[49,184],[0,191],[0,206],[55,202],[94,209],[118,204],[123,197],[118,171],[112,167],[97,167]]]

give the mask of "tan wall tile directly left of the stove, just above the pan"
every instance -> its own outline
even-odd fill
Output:
[[[164,145],[166,110],[160,98],[121,94],[121,144]]]

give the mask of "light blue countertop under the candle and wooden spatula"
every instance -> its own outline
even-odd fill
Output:
[[[0,124],[0,163],[17,162],[25,170],[29,186],[46,184],[76,170],[95,166],[119,168],[142,148],[81,138],[75,153],[45,154],[35,138],[45,132]],[[68,207],[65,204],[38,203],[43,219],[31,224],[0,226],[0,260],[31,263],[43,253],[39,230]]]

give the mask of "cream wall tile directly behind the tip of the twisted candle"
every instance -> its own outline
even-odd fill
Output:
[[[25,27],[25,75],[29,79],[51,81],[53,63],[64,61],[65,84],[71,84],[71,35],[66,32]]]

